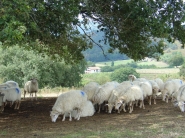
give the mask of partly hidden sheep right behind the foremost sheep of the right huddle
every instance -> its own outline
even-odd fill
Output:
[[[130,87],[132,84],[132,82],[130,81],[123,81],[122,83],[120,83],[116,88],[114,88],[110,94],[110,97],[108,99],[108,113],[112,112],[112,108],[114,107],[114,104],[116,102],[116,99],[118,98],[118,96],[125,92],[125,90]],[[118,113],[120,113],[120,110],[118,110]]]

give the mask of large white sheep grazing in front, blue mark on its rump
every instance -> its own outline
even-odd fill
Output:
[[[52,111],[50,112],[51,121],[56,122],[60,114],[63,115],[62,121],[65,121],[65,115],[69,113],[69,121],[72,121],[71,112],[77,110],[76,118],[80,119],[80,114],[87,102],[87,94],[81,90],[71,90],[58,96]]]

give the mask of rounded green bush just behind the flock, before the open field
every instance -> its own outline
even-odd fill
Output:
[[[128,80],[128,76],[130,74],[135,75],[137,78],[139,78],[139,74],[136,72],[136,70],[134,68],[121,68],[121,69],[117,69],[115,70],[112,74],[111,74],[111,80],[112,81],[117,81],[119,83],[123,82],[123,81],[127,81]]]

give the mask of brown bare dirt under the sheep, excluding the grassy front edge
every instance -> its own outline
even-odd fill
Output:
[[[22,100],[18,111],[6,106],[0,114],[0,137],[1,138],[55,138],[63,137],[66,134],[81,130],[91,130],[98,132],[101,130],[111,131],[111,128],[142,130],[144,127],[165,127],[171,128],[178,125],[183,126],[185,121],[184,113],[178,108],[173,107],[172,103],[165,103],[157,99],[157,104],[145,103],[146,109],[135,107],[132,114],[113,112],[108,114],[101,112],[95,113],[92,117],[81,118],[79,121],[73,119],[62,122],[59,116],[56,123],[50,119],[50,111],[55,98],[38,98],[37,101],[30,99]],[[180,118],[180,119],[178,119]],[[174,121],[169,123],[169,121]],[[156,125],[163,122],[161,126]]]

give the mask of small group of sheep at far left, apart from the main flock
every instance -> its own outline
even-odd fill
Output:
[[[30,93],[30,97],[33,98],[33,93],[35,93],[35,97],[37,99],[38,91],[38,81],[33,78],[30,81],[27,81],[24,85],[24,98],[26,92]],[[4,107],[7,105],[7,102],[10,102],[10,106],[12,106],[15,102],[14,109],[19,109],[21,104],[21,89],[19,88],[19,84],[15,81],[7,81],[3,84],[0,84],[0,111],[4,111]]]

